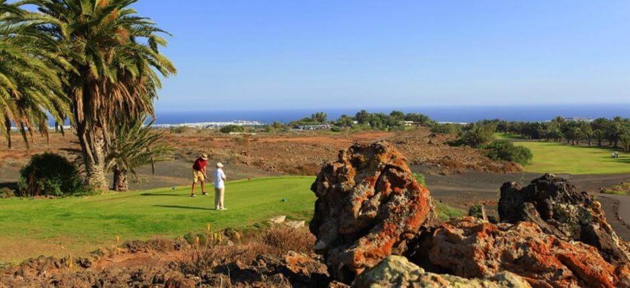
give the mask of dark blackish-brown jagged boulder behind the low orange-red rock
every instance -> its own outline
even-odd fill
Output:
[[[546,174],[526,187],[507,182],[501,187],[498,210],[502,222],[534,222],[559,239],[592,245],[610,263],[630,262],[630,252],[608,224],[599,202],[579,193],[564,178]]]

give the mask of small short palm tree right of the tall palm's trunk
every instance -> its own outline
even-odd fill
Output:
[[[113,146],[106,157],[106,171],[114,173],[113,190],[126,192],[129,175],[139,182],[137,167],[151,164],[155,173],[155,162],[171,158],[172,147],[157,143],[164,132],[152,130],[153,121],[144,125],[146,118],[133,119],[115,128]]]

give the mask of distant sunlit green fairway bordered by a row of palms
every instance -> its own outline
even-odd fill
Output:
[[[511,135],[498,135],[499,139],[515,139]],[[525,166],[525,171],[535,173],[614,174],[630,173],[630,155],[619,152],[619,158],[612,158],[615,150],[597,146],[573,146],[557,142],[518,141],[531,149],[534,158]]]

